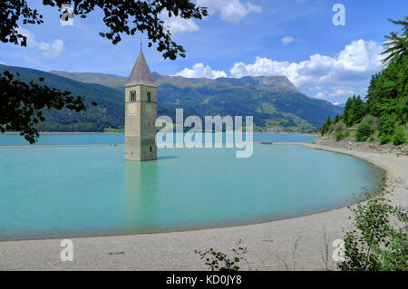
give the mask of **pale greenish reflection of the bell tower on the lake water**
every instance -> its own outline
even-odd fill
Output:
[[[131,233],[150,232],[159,221],[158,163],[125,162],[125,222]]]

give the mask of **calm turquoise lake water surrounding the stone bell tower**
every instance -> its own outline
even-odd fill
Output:
[[[9,135],[0,136],[2,144],[8,141],[3,137]],[[235,153],[159,149],[157,161],[138,163],[124,161],[123,147],[0,149],[0,240],[298,217],[353,203],[384,178],[363,160],[303,146],[256,145],[249,159],[236,159]]]

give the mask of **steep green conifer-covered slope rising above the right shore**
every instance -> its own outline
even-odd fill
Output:
[[[336,133],[336,139],[343,139],[345,128],[356,127],[357,141],[378,138],[385,144],[403,144],[406,141],[406,120],[408,113],[408,17],[393,21],[403,26],[402,34],[385,36],[384,70],[372,76],[364,100],[353,96],[345,103],[343,116],[332,122],[328,118],[321,132]]]

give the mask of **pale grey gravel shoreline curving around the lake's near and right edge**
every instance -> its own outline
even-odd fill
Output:
[[[384,169],[394,187],[394,204],[408,207],[408,157],[305,144],[349,154]],[[201,231],[135,236],[108,236],[73,239],[74,260],[62,262],[61,240],[0,242],[0,270],[201,270],[204,262],[195,249],[214,247],[228,253],[239,239],[248,247],[252,270],[324,269],[324,236],[330,249],[349,226],[350,211],[340,208],[307,217],[264,224],[234,226]],[[293,248],[297,240],[296,254]],[[285,262],[283,261],[285,260]],[[333,268],[329,257],[329,268]],[[242,269],[248,269],[245,263]]]

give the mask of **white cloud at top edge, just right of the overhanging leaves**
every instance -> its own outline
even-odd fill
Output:
[[[240,0],[197,0],[197,5],[209,8],[209,14],[219,13],[221,19],[237,23],[250,12],[261,13],[262,7]]]

